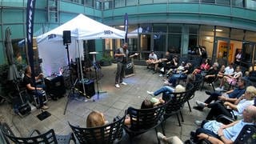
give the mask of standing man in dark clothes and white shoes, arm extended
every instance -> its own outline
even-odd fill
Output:
[[[127,58],[129,56],[129,50],[127,50],[128,44],[124,43],[122,47],[118,48],[118,50],[115,51],[114,57],[115,60],[118,63],[117,67],[117,73],[115,75],[115,87],[119,88],[119,84],[127,85],[126,82],[122,82],[122,78],[125,76],[125,66],[127,62]],[[133,55],[130,55],[129,58],[134,57],[135,55],[138,55],[138,53],[135,53]]]

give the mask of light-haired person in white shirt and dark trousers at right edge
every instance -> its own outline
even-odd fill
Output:
[[[245,94],[233,102],[214,102],[206,104],[205,106],[210,108],[210,112],[206,116],[206,120],[212,120],[218,115],[223,114],[230,118],[240,118],[242,111],[250,105],[254,105],[254,98],[256,95],[256,88],[254,86],[248,86]]]

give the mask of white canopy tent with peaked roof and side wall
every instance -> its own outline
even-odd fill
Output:
[[[80,40],[102,39],[102,38],[125,38],[125,31],[117,30],[94,21],[83,14],[58,26],[54,30],[37,37],[38,53],[42,58],[42,72],[50,75],[62,66],[67,66],[66,46],[63,46],[62,34],[64,30],[70,30],[71,43],[69,45],[71,58],[82,58],[83,46]]]

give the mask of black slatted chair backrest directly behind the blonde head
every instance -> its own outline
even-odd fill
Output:
[[[125,117],[126,114],[115,122],[98,127],[82,128],[72,126],[70,122],[69,125],[80,143],[111,144],[115,141],[121,140]]]

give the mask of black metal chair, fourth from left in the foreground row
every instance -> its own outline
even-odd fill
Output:
[[[184,107],[184,103],[187,102],[187,99],[190,97],[191,92],[193,92],[194,86],[190,83],[188,84],[190,86],[186,86],[186,91],[181,93],[170,93],[171,99],[169,102],[167,102],[166,106],[166,113],[164,114],[164,122],[166,122],[166,119],[170,116],[176,114],[178,119],[178,125],[182,126],[178,113],[181,115],[182,122],[184,122],[183,116],[182,116],[182,108]],[[165,135],[165,131],[163,130],[163,134]]]

